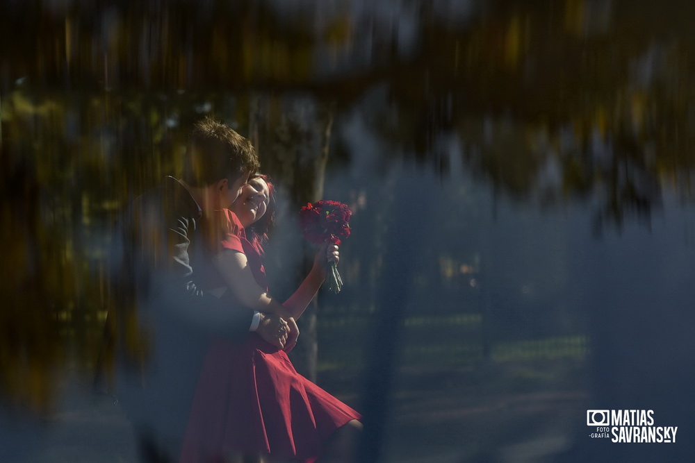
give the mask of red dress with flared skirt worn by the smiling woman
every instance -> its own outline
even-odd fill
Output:
[[[231,233],[222,247],[245,253],[256,282],[267,287],[261,256],[236,215],[224,210],[224,218]],[[234,453],[311,460],[327,437],[360,417],[297,373],[287,354],[259,335],[250,333],[243,344],[215,337],[199,376],[181,463],[222,462]]]

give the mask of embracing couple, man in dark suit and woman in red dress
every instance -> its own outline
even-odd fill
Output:
[[[275,190],[259,167],[249,140],[204,119],[181,178],[127,214],[126,269],[150,345],[120,402],[147,461],[354,461],[359,413],[287,357],[338,246],[320,247],[287,301],[273,298],[262,246]]]

